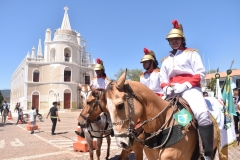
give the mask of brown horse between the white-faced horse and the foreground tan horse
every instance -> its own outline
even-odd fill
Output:
[[[84,105],[81,112],[82,116],[79,116],[78,118],[78,122],[83,126],[87,126],[90,122],[93,122],[102,112],[109,113],[108,110],[106,110],[106,101],[103,98],[102,91],[96,89],[92,90],[93,92],[91,92],[88,97],[87,105]],[[97,103],[98,101],[96,99],[98,98],[102,99],[101,104]],[[88,119],[83,117],[88,117]],[[143,134],[140,134],[142,133],[142,128],[139,128],[137,133],[139,134],[138,138],[143,139]],[[127,159],[132,150],[135,153],[136,160],[143,160],[143,145],[139,142],[134,142],[133,146],[131,146],[131,149],[129,150],[123,149],[119,160]]]

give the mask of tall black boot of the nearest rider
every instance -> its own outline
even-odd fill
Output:
[[[202,139],[204,157],[203,160],[213,159],[213,124],[199,126],[200,137]]]

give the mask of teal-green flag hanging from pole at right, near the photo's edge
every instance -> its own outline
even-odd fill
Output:
[[[232,89],[230,85],[230,74],[228,71],[225,80],[225,85],[223,86],[222,99],[226,107],[226,113],[237,116],[233,103]]]

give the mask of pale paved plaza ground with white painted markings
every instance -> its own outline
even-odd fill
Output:
[[[26,113],[26,112],[25,112]],[[73,150],[73,143],[77,141],[74,131],[77,129],[77,116],[79,112],[59,113],[61,122],[57,123],[56,135],[51,135],[52,122],[46,119],[37,125],[39,130],[35,134],[27,131],[27,124],[15,125],[17,114],[13,113],[13,120],[8,120],[6,125],[0,123],[0,159],[4,160],[87,160],[89,154]],[[105,159],[107,143],[104,139],[101,159]],[[229,150],[229,160],[240,159],[240,147]],[[112,138],[110,159],[118,159],[121,149],[117,147],[115,138]],[[95,155],[95,152],[94,152]],[[96,158],[96,157],[95,157]],[[134,153],[130,154],[130,160],[134,160]],[[144,156],[144,159],[147,159]],[[218,159],[217,157],[215,159]]]

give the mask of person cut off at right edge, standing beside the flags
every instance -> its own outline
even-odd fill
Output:
[[[233,102],[234,102],[234,106],[235,106],[235,111],[237,116],[233,116],[233,120],[234,120],[234,125],[235,125],[235,132],[236,134],[239,133],[239,116],[240,114],[238,113],[238,102],[239,102],[239,93],[238,93],[238,89],[234,88],[233,89]]]

